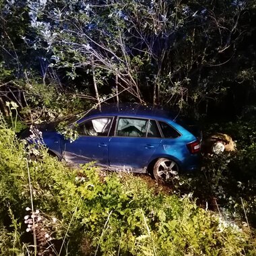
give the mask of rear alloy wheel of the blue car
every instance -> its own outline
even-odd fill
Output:
[[[159,158],[154,165],[153,174],[157,181],[173,181],[179,174],[179,166],[174,160]]]

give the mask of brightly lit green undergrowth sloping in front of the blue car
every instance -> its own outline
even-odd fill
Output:
[[[191,194],[132,174],[69,168],[0,117],[0,255],[255,255],[255,239]]]

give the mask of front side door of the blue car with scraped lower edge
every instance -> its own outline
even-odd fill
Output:
[[[71,142],[65,140],[63,157],[67,162],[84,164],[97,162],[98,165],[108,165],[108,133],[113,117],[98,117],[79,123],[76,127],[77,139]]]

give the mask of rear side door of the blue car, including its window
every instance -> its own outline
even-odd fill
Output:
[[[115,136],[109,142],[110,167],[143,169],[162,141],[154,120],[119,117]]]

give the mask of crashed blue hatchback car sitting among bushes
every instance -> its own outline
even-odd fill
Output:
[[[78,133],[75,141],[47,128],[42,139],[51,154],[73,164],[95,161],[108,170],[148,172],[162,181],[198,166],[199,137],[162,108],[110,104],[70,127]]]

